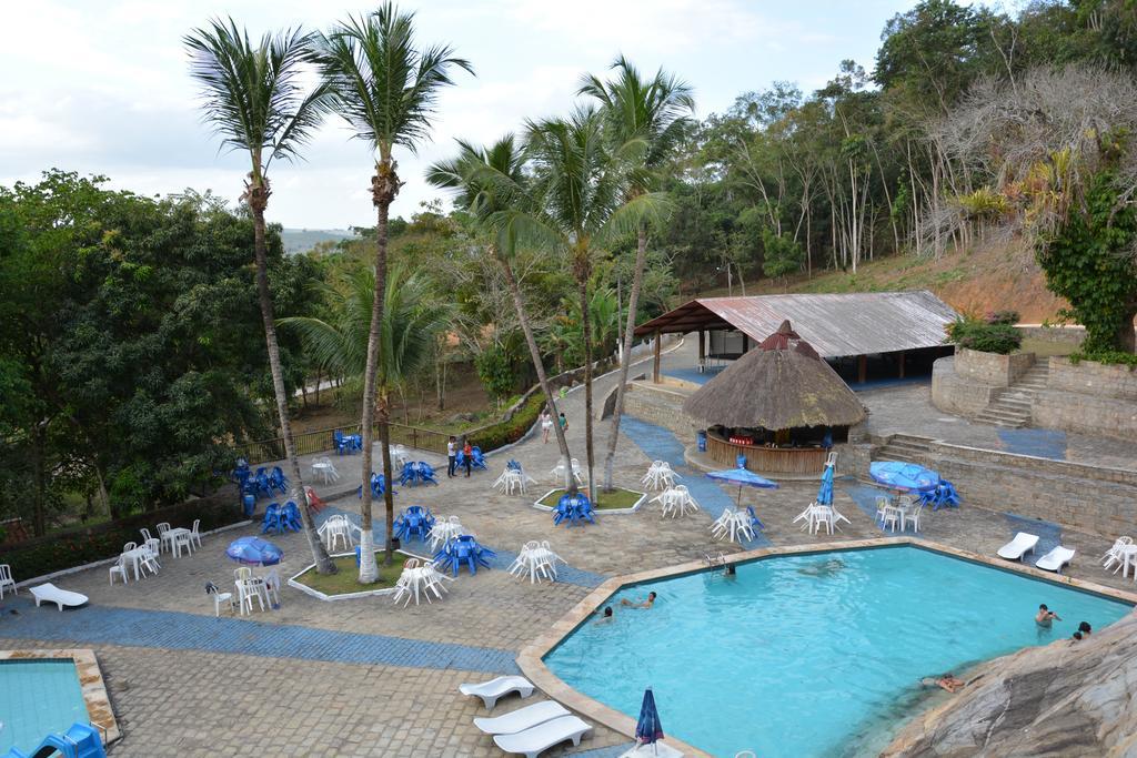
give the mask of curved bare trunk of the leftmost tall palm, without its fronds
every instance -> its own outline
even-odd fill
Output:
[[[273,375],[273,394],[276,397],[276,415],[281,425],[281,439],[284,441],[284,457],[288,459],[289,474],[292,476],[292,499],[300,501],[300,522],[304,525],[304,536],[308,540],[313,560],[318,574],[334,574],[335,564],[327,556],[324,543],[316,534],[316,525],[312,520],[310,503],[304,478],[300,475],[300,459],[296,455],[296,440],[292,438],[292,424],[288,415],[288,393],[284,389],[284,372],[281,369],[280,344],[276,342],[276,322],[273,316],[273,300],[268,293],[268,253],[265,244],[265,207],[268,202],[268,189],[256,185],[249,189],[249,206],[252,209],[252,249],[257,258],[257,295],[260,299],[260,318],[265,323],[265,344],[268,348],[268,368]],[[299,495],[297,494],[299,492]]]

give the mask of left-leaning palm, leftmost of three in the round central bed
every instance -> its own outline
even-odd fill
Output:
[[[475,148],[458,140],[458,156],[431,166],[426,180],[434,186],[456,191],[456,205],[468,210],[478,219],[479,225],[492,235],[493,241],[489,244],[489,252],[505,276],[517,320],[529,345],[529,356],[537,370],[537,381],[545,393],[545,402],[556,418],[558,413],[556,398],[545,373],[541,350],[537,345],[525,300],[513,270],[516,235],[511,234],[508,228],[496,228],[493,224],[498,214],[511,206],[529,210],[533,208],[532,199],[526,192],[528,178],[524,167],[524,151],[518,149],[513,134],[505,135],[489,148]],[[561,424],[555,423],[553,430],[556,433],[557,447],[561,449],[565,488],[567,488],[572,476],[568,442]]]

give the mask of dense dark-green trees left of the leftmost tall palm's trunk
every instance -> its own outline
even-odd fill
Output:
[[[38,532],[67,475],[85,472],[123,515],[204,492],[230,441],[265,432],[251,220],[208,195],[101,185],[50,172],[0,190],[0,359],[19,394],[6,397],[5,456],[30,463],[33,493],[6,510]],[[268,255],[293,265],[275,233]],[[285,313],[300,299],[274,295]]]

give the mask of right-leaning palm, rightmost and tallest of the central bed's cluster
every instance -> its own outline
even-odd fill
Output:
[[[601,82],[586,76],[579,94],[588,94],[600,102],[608,139],[617,152],[628,156],[626,191],[630,197],[648,192],[658,182],[658,169],[675,152],[683,134],[691,124],[695,110],[691,88],[662,68],[647,82],[639,70],[623,56],[612,64],[616,76]],[[644,286],[644,267],[647,260],[647,224],[637,230],[636,268],[632,291],[628,298],[628,327],[620,355],[620,383],[616,385],[616,406],[612,413],[612,432],[604,459],[604,489],[611,491],[612,469],[620,438],[620,419],[624,413],[624,390],[631,368],[633,332],[640,290]]]

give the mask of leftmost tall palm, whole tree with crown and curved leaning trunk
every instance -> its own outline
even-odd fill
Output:
[[[281,438],[284,440],[284,457],[288,458],[294,485],[292,498],[299,500],[304,497],[307,506],[307,491],[289,422],[273,301],[268,293],[265,209],[272,194],[268,166],[274,158],[299,157],[300,148],[326,113],[327,90],[321,85],[305,93],[300,84],[301,66],[309,59],[312,50],[312,35],[300,30],[265,34],[257,44],[252,44],[248,33],[239,30],[232,18],[227,23],[217,19],[186,35],[185,47],[192,56],[190,70],[201,84],[206,122],[221,135],[224,147],[249,153],[251,170],[242,200],[252,213],[257,294],[268,347],[268,366]],[[334,574],[335,564],[327,557],[307,507],[300,509],[300,519],[316,570]]]

